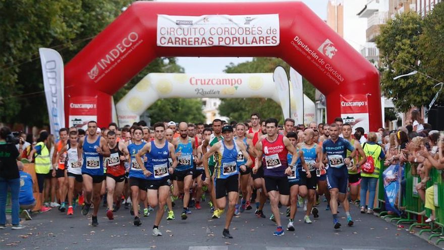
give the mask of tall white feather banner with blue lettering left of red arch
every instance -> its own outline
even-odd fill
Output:
[[[39,48],[51,134],[65,127],[63,60],[51,48]]]

